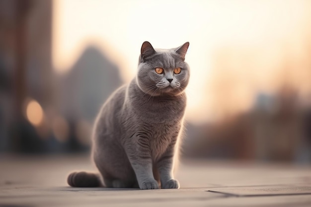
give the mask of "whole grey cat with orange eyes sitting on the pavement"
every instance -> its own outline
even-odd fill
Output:
[[[93,130],[100,174],[73,172],[73,187],[179,188],[173,177],[186,107],[189,42],[154,49],[144,42],[138,73],[104,103]],[[103,183],[102,183],[103,181]]]

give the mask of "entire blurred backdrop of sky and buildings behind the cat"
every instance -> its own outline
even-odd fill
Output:
[[[183,157],[311,164],[310,0],[0,0],[0,153],[88,153],[146,40],[190,42]]]

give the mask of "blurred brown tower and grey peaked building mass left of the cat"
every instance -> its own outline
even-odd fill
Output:
[[[122,84],[96,47],[67,74],[52,66],[51,0],[0,1],[0,152],[89,148],[101,104]]]

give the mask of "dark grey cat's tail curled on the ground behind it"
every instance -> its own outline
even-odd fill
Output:
[[[72,187],[101,187],[102,183],[98,173],[72,172],[68,175],[67,183]]]

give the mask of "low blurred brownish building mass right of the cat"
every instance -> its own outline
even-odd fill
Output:
[[[311,162],[311,105],[284,86],[259,93],[252,108],[218,122],[188,126],[184,155],[222,159]]]

